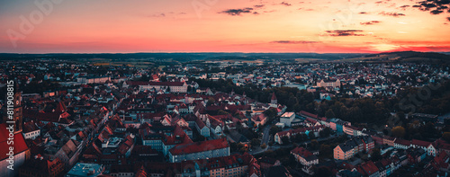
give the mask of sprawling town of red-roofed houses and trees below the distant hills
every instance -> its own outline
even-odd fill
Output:
[[[4,156],[2,173],[446,176],[450,170],[449,117],[439,113],[448,105],[388,106],[410,89],[448,85],[448,67],[220,62],[223,71],[213,73],[207,64],[4,62],[4,72],[14,66],[1,81],[4,87],[14,81],[17,170],[6,170]],[[446,88],[434,92],[446,95]]]

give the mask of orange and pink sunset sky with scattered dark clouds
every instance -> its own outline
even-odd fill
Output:
[[[36,2],[0,1],[0,52],[450,51],[443,0]]]

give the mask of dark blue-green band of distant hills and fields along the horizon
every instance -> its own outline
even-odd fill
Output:
[[[63,59],[74,61],[144,62],[158,63],[189,62],[197,60],[274,60],[274,61],[429,61],[450,62],[450,53],[401,51],[379,54],[364,53],[104,53],[104,54],[10,54],[0,53],[0,60]]]

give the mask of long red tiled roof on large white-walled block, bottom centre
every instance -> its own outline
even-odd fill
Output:
[[[226,138],[177,145],[169,150],[172,155],[185,155],[229,147]]]

